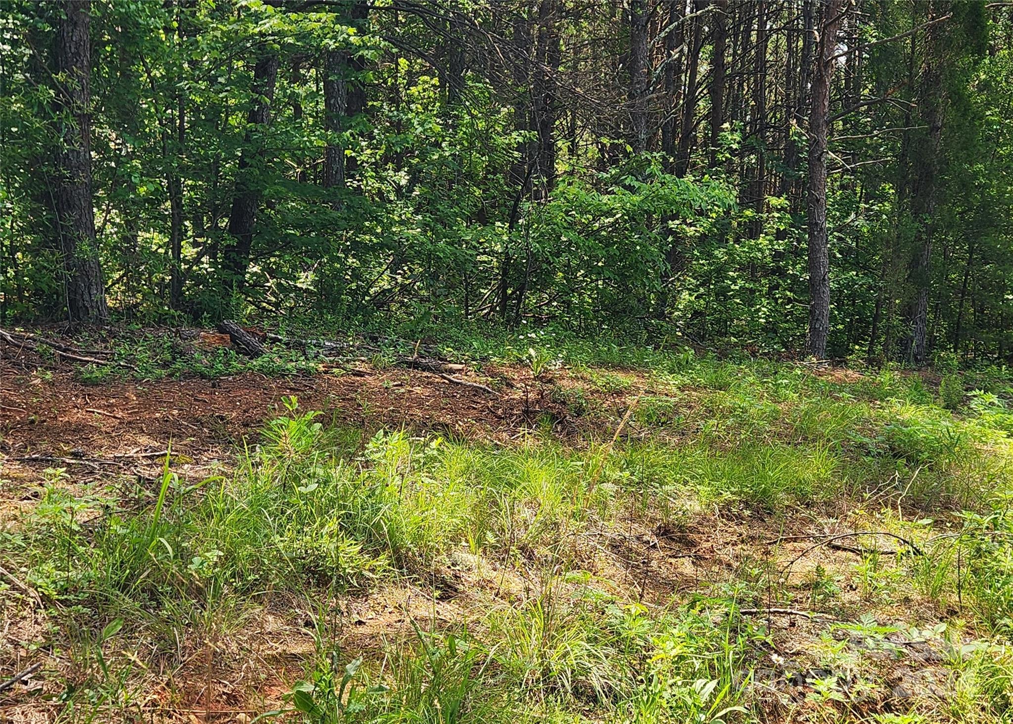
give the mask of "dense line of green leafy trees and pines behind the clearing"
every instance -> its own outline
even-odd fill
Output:
[[[1013,8],[6,0],[0,316],[1013,348]]]

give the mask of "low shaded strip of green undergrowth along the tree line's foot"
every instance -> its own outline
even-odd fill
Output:
[[[838,382],[821,379],[801,365],[791,365],[728,351],[700,353],[675,330],[664,327],[633,336],[610,335],[602,330],[596,337],[576,335],[559,328],[504,330],[479,322],[408,322],[376,325],[332,322],[271,322],[270,329],[289,340],[332,340],[367,345],[366,354],[383,367],[399,356],[419,352],[435,353],[453,361],[469,363],[479,371],[488,363],[521,364],[538,375],[560,367],[582,371],[596,386],[606,391],[633,388],[624,371],[648,374],[652,379],[678,384],[750,392],[762,389],[775,399],[831,390]],[[77,376],[86,383],[101,383],[122,377],[159,379],[163,377],[215,378],[252,371],[268,376],[311,373],[323,358],[311,344],[265,342],[267,354],[250,359],[224,347],[204,347],[197,341],[200,330],[110,327],[82,331],[72,343],[82,349],[105,350],[114,364],[84,364]],[[181,334],[185,332],[186,334]],[[43,335],[46,337],[46,335]],[[54,358],[45,347],[40,354]],[[851,369],[863,371],[861,379],[844,385],[857,400],[906,400],[933,403],[959,411],[966,407],[967,392],[985,390],[995,394],[1010,389],[1011,371],[1004,365],[979,365],[960,372],[950,358],[938,360],[938,379],[928,382],[905,371],[895,363],[865,369],[861,359],[848,360]],[[748,396],[748,394],[747,394]]]

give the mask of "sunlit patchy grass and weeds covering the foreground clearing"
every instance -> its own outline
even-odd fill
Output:
[[[267,718],[754,722],[811,707],[812,721],[1013,720],[1013,414],[1001,380],[988,391],[960,377],[961,394],[949,383],[943,399],[894,370],[840,380],[645,359],[633,377],[568,362],[587,394],[564,400],[582,414],[605,414],[595,390],[636,397],[625,422],[612,413],[614,444],[551,426],[505,446],[367,435],[291,399],[220,477],[183,480],[171,456],[153,487],[68,485],[49,470],[0,549],[52,604],[65,718],[129,720],[153,671],[208,642],[256,650],[255,622],[287,596],[315,654]],[[817,523],[887,531],[897,551],[869,545],[801,578],[762,547],[734,563],[701,554],[692,576],[673,569],[680,585],[645,595],[654,574],[609,542],[717,529],[762,539]],[[465,576],[481,570],[496,583]],[[347,644],[336,602],[399,586],[423,591],[432,616]],[[444,604],[462,608],[438,616]],[[844,622],[808,634],[804,685],[775,703],[790,671],[764,673],[788,666],[755,612],[768,606]],[[890,699],[882,661],[907,656],[897,636],[938,647],[948,699]]]

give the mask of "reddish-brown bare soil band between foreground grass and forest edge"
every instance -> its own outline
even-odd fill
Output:
[[[283,399],[290,395],[303,411],[321,411],[333,423],[368,434],[403,427],[492,442],[517,439],[536,423],[551,424],[557,434],[570,437],[589,429],[608,434],[603,424],[621,416],[629,403],[627,394],[596,392],[596,407],[606,414],[573,419],[554,393],[579,383],[566,371],[536,379],[524,367],[486,366],[481,375],[469,371],[457,378],[489,385],[494,392],[403,368],[85,384],[67,364],[35,369],[24,360],[0,359],[0,467],[8,479],[34,478],[46,466],[68,463],[17,458],[79,458],[69,463],[78,477],[99,469],[89,460],[165,450],[170,444],[199,465],[226,460],[235,443],[255,442],[266,420],[287,414]],[[159,460],[121,462],[135,468]],[[28,469],[36,475],[19,475]]]

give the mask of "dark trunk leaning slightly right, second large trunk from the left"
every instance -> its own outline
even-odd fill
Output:
[[[260,205],[261,189],[255,176],[263,162],[263,134],[270,118],[270,103],[275,98],[278,80],[278,54],[261,49],[253,68],[253,98],[246,117],[246,134],[243,151],[239,156],[236,190],[229,215],[229,236],[225,247],[223,267],[225,283],[232,291],[241,290],[249,267],[250,248],[253,245],[253,224]]]

